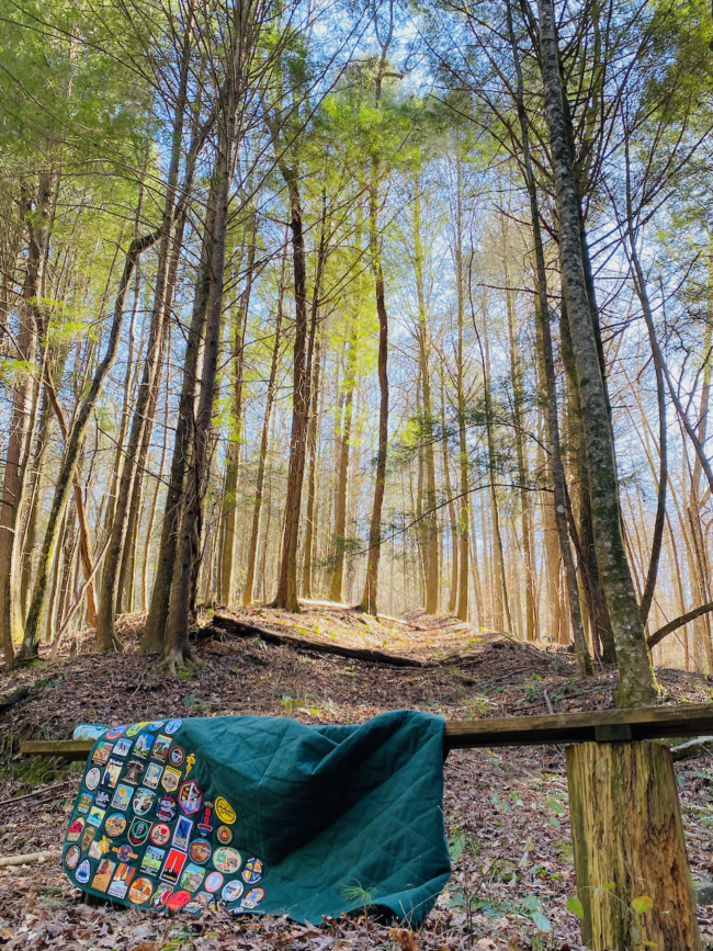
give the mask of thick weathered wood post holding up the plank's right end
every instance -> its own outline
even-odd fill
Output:
[[[670,750],[623,725],[597,733],[566,751],[582,943],[701,951]]]

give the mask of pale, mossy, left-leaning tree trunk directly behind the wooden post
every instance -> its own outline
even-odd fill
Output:
[[[613,433],[582,264],[579,203],[565,126],[552,0],[537,0],[537,8],[545,112],[559,219],[563,290],[579,382],[597,563],[616,648],[616,703],[638,706],[656,700],[656,681],[621,531]]]

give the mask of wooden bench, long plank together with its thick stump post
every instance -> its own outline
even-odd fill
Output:
[[[713,734],[713,703],[448,721],[444,749],[567,745],[582,941],[593,951],[701,951],[678,784],[666,737]],[[23,754],[87,759],[93,740]]]

